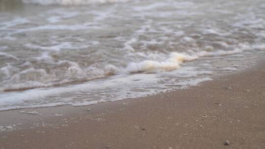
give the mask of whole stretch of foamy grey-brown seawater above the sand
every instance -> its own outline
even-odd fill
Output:
[[[0,110],[172,91],[265,56],[263,0],[0,0]]]

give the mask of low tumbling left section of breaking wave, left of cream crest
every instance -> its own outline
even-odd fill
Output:
[[[63,63],[70,63],[70,62],[65,61]],[[113,75],[114,72],[117,71],[116,67],[114,67],[113,65],[106,65],[105,68],[103,69],[88,68],[86,70],[82,70],[79,68],[77,64],[73,62],[71,64],[74,66],[70,66],[67,69],[67,71],[64,72],[64,75],[58,76],[57,78],[54,77],[54,75],[56,74],[55,71],[54,71],[55,74],[47,74],[46,70],[44,69],[34,69],[34,68],[19,72],[13,76],[7,76],[9,77],[8,80],[0,82],[0,86],[2,85],[2,87],[0,87],[0,92],[28,90],[40,87],[61,86],[64,84],[75,83],[75,82],[85,82]],[[6,67],[0,68],[0,75],[2,72],[5,73],[5,75],[10,75],[8,73],[9,70]],[[50,78],[49,77],[50,75],[53,76],[54,78]],[[60,77],[63,79],[56,80],[59,79]],[[45,82],[44,80],[49,80],[49,82]]]

